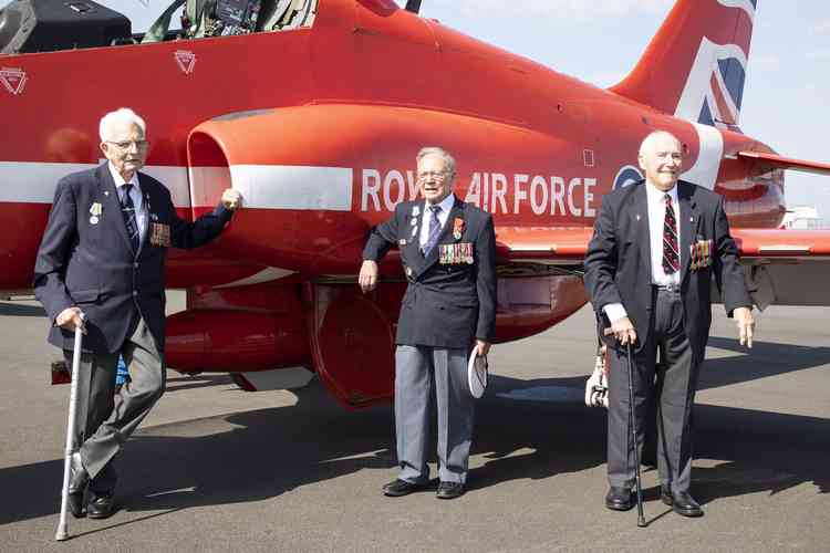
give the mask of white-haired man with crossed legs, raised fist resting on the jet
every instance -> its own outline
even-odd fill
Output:
[[[167,188],[138,173],[147,158],[145,129],[128,108],[101,119],[107,161],[58,182],[34,267],[34,293],[53,323],[49,342],[64,351],[68,364],[75,327],[86,334],[75,429],[82,445],[71,462],[75,517],[114,512],[113,457],[164,393],[167,248],[209,242],[241,201],[228,189],[212,213],[180,220]],[[115,395],[120,355],[132,379]]]

